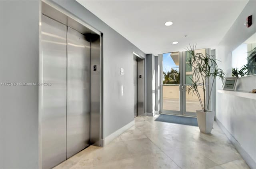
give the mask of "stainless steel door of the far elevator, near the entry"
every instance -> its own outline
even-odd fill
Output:
[[[134,117],[138,116],[138,63],[133,60]]]

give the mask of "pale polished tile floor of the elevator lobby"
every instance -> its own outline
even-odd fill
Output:
[[[198,127],[136,117],[135,125],[105,147],[90,146],[55,169],[248,169],[214,123]]]

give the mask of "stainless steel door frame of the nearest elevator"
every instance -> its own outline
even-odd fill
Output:
[[[40,1],[39,7],[39,83],[43,82],[42,75],[42,51],[41,51],[41,14],[48,16],[49,18],[56,20],[66,26],[69,26],[78,32],[85,34],[90,34],[90,43],[94,44],[94,50],[91,51],[90,57],[94,57],[90,60],[90,145],[103,146],[103,57],[102,57],[102,40],[103,34],[98,30],[92,28],[92,26],[86,24],[84,21],[80,20],[72,13],[56,5],[52,1],[42,0]],[[94,37],[98,37],[94,38]],[[92,45],[91,45],[92,46]],[[93,55],[93,56],[92,56]],[[96,66],[96,71],[94,71],[94,66]],[[92,81],[94,85],[92,85]],[[39,168],[42,168],[42,136],[41,136],[41,116],[43,111],[42,105],[42,86],[38,87],[39,100],[38,100],[38,153],[39,153]]]

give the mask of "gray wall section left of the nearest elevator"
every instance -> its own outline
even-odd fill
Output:
[[[38,82],[39,2],[0,3],[0,81]],[[38,168],[38,87],[0,90],[0,168]]]

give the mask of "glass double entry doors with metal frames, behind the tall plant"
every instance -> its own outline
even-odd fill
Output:
[[[206,49],[196,50],[196,53],[206,55]],[[192,68],[188,65],[190,54],[186,52],[170,52],[160,57],[161,70],[161,113],[173,115],[196,116],[196,110],[201,105],[198,97],[188,93],[192,83]],[[199,91],[203,100],[204,92]]]

